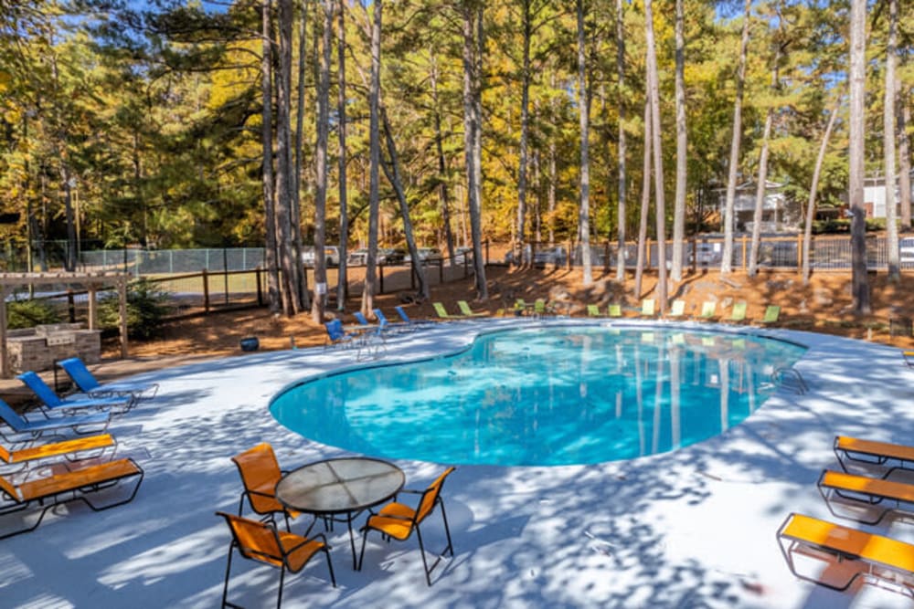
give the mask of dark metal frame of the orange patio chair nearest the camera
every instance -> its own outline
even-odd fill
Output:
[[[280,532],[278,530],[276,530],[275,523],[261,522],[260,520],[249,520],[246,518],[241,518],[240,516],[234,516],[232,514],[227,514],[226,512],[222,512],[222,511],[216,512],[216,515],[221,516],[222,518],[224,518],[226,520],[226,523],[228,523],[228,530],[231,531],[231,536],[232,536],[232,541],[228,545],[228,561],[226,564],[226,580],[225,580],[225,585],[222,588],[222,605],[221,606],[223,607],[223,609],[225,607],[232,607],[232,609],[243,609],[243,607],[241,607],[241,605],[230,603],[228,601],[228,580],[230,579],[230,574],[231,574],[231,559],[232,559],[232,555],[235,553],[236,548],[238,549],[241,556],[243,556],[246,559],[249,559],[251,561],[256,561],[256,562],[262,562],[263,564],[268,564],[272,567],[279,567],[280,585],[279,585],[279,592],[277,593],[277,596],[276,596],[277,609],[279,609],[279,607],[282,606],[282,586],[285,583],[285,572],[288,571],[288,572],[292,572],[292,573],[297,573],[297,572],[302,571],[304,569],[304,567],[307,566],[307,564],[309,562],[311,562],[311,559],[314,558],[314,554],[316,554],[318,551],[324,552],[324,557],[326,557],[326,559],[327,559],[327,569],[329,569],[329,571],[330,571],[330,581],[331,581],[331,583],[333,583],[334,587],[336,587],[336,577],[334,575],[334,564],[333,564],[333,562],[330,561],[330,551],[329,551],[330,546],[327,545],[327,540],[324,537],[323,533],[318,533],[317,535],[314,535],[314,537],[310,537],[310,538],[307,537],[307,534],[305,534],[305,536],[301,536],[301,535],[295,535],[293,533],[285,533],[286,536],[292,536],[292,538],[294,538],[295,541],[299,541],[299,540],[300,541],[290,548],[284,548],[282,546],[282,537],[280,535]],[[274,547],[271,548],[272,551],[267,551],[264,549],[251,547],[250,545],[243,543],[239,539],[238,531],[235,529],[235,526],[233,526],[233,523],[239,524],[240,526],[245,527],[245,528],[253,528],[253,527],[260,528],[261,530],[264,530],[263,532],[267,532],[266,530],[269,530],[267,539],[268,539],[268,541],[272,541],[272,543],[275,544]],[[271,540],[270,540],[270,537],[272,538]],[[293,565],[289,560],[292,553],[296,550],[299,550],[304,545],[313,543],[314,541],[318,541],[321,544],[321,547],[315,549],[314,552],[310,556],[308,556],[308,558],[306,558],[304,560],[304,562],[302,562],[302,564],[299,565],[299,567],[297,569],[294,568],[295,565]]]

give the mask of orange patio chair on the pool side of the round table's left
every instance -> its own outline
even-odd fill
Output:
[[[273,447],[264,442],[231,457],[231,460],[238,466],[238,473],[244,483],[238,502],[238,515],[241,515],[244,499],[247,498],[250,509],[261,517],[260,520],[275,522],[275,514],[282,513],[286,530],[290,530],[289,518],[295,518],[298,512],[286,509],[276,499],[276,484],[285,472],[280,469]]]

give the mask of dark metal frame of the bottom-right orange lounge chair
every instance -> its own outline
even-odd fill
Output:
[[[806,537],[792,534],[789,532],[789,529],[790,525],[795,519],[802,519],[805,522],[811,522],[813,524],[824,524],[834,527],[835,530],[841,533],[844,539],[833,538],[831,543],[824,544],[822,542],[813,541]],[[783,554],[784,560],[787,562],[787,566],[793,575],[799,579],[805,580],[806,582],[816,583],[825,586],[826,588],[837,590],[838,592],[844,592],[859,577],[865,580],[870,579],[871,583],[895,584],[900,592],[906,593],[912,599],[914,599],[914,589],[912,589],[912,583],[901,583],[898,581],[904,579],[910,580],[912,572],[908,571],[907,569],[899,568],[898,565],[891,564],[890,562],[878,560],[875,556],[876,552],[868,551],[866,548],[864,551],[856,551],[855,541],[859,541],[861,539],[874,540],[879,543],[889,544],[896,549],[900,549],[899,551],[908,551],[914,553],[914,546],[908,543],[892,540],[881,535],[867,533],[862,530],[850,529],[839,524],[826,522],[824,520],[813,519],[809,516],[797,514],[796,512],[792,512],[790,515],[788,515],[788,517],[781,524],[781,527],[778,529],[777,533],[777,540],[778,545],[781,548],[781,554]],[[789,544],[785,546],[784,541],[789,541]],[[809,575],[804,575],[798,572],[796,565],[793,563],[793,552],[801,548],[827,554],[834,557],[837,562],[860,562],[861,564],[866,565],[866,571],[855,572],[844,583],[828,583],[820,579],[815,579]]]

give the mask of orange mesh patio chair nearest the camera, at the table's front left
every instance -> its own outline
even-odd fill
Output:
[[[330,581],[336,587],[334,565],[330,562],[330,552],[327,551],[327,541],[324,535],[315,535],[313,538],[302,537],[294,533],[276,530],[272,522],[261,522],[216,512],[226,520],[228,529],[231,530],[232,541],[228,546],[228,564],[226,565],[226,581],[222,589],[222,606],[235,607],[239,605],[228,602],[228,580],[231,574],[231,559],[237,548],[241,556],[250,560],[269,564],[280,570],[280,589],[276,599],[276,606],[282,605],[282,584],[285,572],[300,572],[318,551],[323,551],[327,559],[327,568],[330,570]]]

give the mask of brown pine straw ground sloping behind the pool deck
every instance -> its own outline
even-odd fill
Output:
[[[474,310],[487,310],[497,315],[500,310],[509,309],[516,298],[527,301],[544,298],[569,302],[571,312],[576,316],[586,314],[588,303],[606,305],[610,302],[622,302],[625,312],[636,316],[640,299],[655,296],[657,280],[655,274],[648,275],[643,293],[635,298],[633,274],[620,284],[615,281],[614,272],[603,275],[601,268],[594,269],[594,282],[588,288],[582,287],[581,273],[577,269],[490,267],[486,274],[487,302],[475,301],[472,280],[462,280],[433,287],[429,302],[414,303],[409,292],[399,292],[377,297],[376,306],[384,310],[390,320],[396,319],[394,306],[404,303],[410,317],[433,319],[431,301],[441,301],[448,310],[456,312],[456,300],[466,299]],[[892,285],[885,273],[880,272],[875,276],[871,274],[869,280],[873,313],[866,317],[853,313],[850,274],[845,272],[819,272],[813,275],[808,286],[803,286],[801,276],[795,272],[762,272],[756,278],[732,273],[721,278],[717,271],[697,271],[678,285],[671,284],[669,294],[671,299],[685,299],[689,314],[700,310],[705,300],[715,300],[717,314],[726,318],[733,302],[746,301],[749,320],[759,320],[765,306],[773,303],[781,305],[780,325],[783,327],[883,342],[905,349],[914,347],[911,336],[889,334],[891,318],[914,317],[912,277],[903,276],[898,285]],[[359,306],[357,298],[346,302],[344,323],[355,323],[351,312]],[[338,315],[335,310],[328,310],[328,316],[335,315]],[[241,353],[239,340],[246,336],[258,337],[261,351],[273,351],[288,349],[292,337],[299,347],[324,344],[326,333],[308,314],[290,319],[271,315],[265,308],[218,312],[169,322],[161,335],[152,341],[131,341],[131,360],[139,365],[130,366],[124,372],[160,367],[165,362],[175,365],[187,358],[238,355]],[[106,340],[103,351],[106,360],[116,358],[117,342]]]

